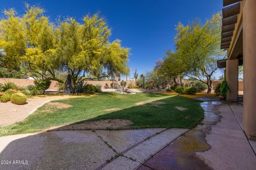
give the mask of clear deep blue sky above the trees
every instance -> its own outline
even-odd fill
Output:
[[[131,48],[130,77],[135,69],[139,74],[152,70],[166,50],[173,50],[179,21],[204,22],[222,8],[222,0],[1,0],[0,9],[14,7],[22,14],[25,3],[41,6],[52,21],[59,15],[81,21],[87,13],[100,12],[112,29],[111,40],[121,39],[123,46]]]

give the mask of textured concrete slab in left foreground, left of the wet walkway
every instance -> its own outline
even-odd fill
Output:
[[[0,158],[10,163],[0,169],[134,169],[186,131],[81,130],[1,137]]]

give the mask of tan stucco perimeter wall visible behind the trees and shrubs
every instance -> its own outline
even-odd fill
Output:
[[[0,78],[1,84],[4,84],[6,82],[14,82],[15,84],[17,84],[17,86],[20,86],[20,87],[27,87],[28,85],[34,85],[34,80]],[[183,81],[184,84],[187,84],[189,82],[191,82],[191,81]],[[55,87],[56,83],[57,83],[57,81],[52,81],[49,90],[58,90],[58,88]],[[112,81],[86,81],[86,83],[93,84],[94,86],[97,84],[101,84],[102,88],[104,88],[104,86],[106,86],[106,84],[108,84],[108,86],[111,87]],[[118,84],[120,84],[120,83],[121,82],[118,81]],[[213,87],[215,87],[219,83],[221,83],[221,81],[213,81],[212,82]],[[127,81],[126,86],[128,86],[129,84],[132,84],[133,86],[135,86],[136,82],[135,81]],[[243,91],[243,81],[238,82],[238,90]]]

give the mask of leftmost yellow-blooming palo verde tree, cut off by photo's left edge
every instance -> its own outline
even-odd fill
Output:
[[[26,5],[24,15],[5,10],[0,21],[0,46],[6,52],[3,66],[41,80],[54,78],[54,70],[59,69],[58,58],[53,57],[53,24],[43,12]]]

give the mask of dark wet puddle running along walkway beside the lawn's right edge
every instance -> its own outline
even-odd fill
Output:
[[[215,102],[212,105],[202,103],[201,106],[209,106],[211,111],[207,112],[207,107],[204,107],[206,111],[204,120],[193,130],[159,151],[143,165],[152,169],[212,169],[204,160],[197,157],[196,152],[205,152],[211,149],[205,137],[211,131],[212,125],[221,120],[218,105],[219,103]]]

